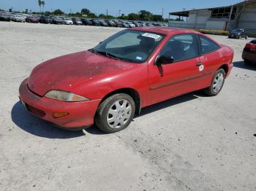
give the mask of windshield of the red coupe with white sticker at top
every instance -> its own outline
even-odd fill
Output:
[[[147,31],[120,31],[91,49],[110,58],[133,63],[143,63],[155,50],[164,34]]]

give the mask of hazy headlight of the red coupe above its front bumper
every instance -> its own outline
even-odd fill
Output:
[[[45,98],[51,98],[59,101],[75,102],[75,101],[88,101],[89,98],[85,98],[75,93],[69,93],[61,90],[50,90],[45,94]]]

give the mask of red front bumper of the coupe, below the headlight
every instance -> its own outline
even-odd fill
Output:
[[[20,100],[29,112],[43,120],[70,129],[93,125],[94,115],[100,102],[100,100],[64,102],[40,97],[29,90],[27,79],[21,83],[19,93]],[[69,114],[66,117],[54,118],[54,112],[68,112]]]

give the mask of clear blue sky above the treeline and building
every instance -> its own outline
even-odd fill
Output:
[[[80,12],[82,8],[90,9],[91,12],[99,15],[100,13],[118,16],[121,14],[128,15],[130,12],[138,13],[146,9],[155,15],[168,17],[168,12],[182,11],[183,9],[201,9],[209,7],[222,7],[236,4],[242,0],[45,0],[45,11],[61,9],[64,12]],[[24,11],[31,9],[39,11],[37,0],[0,0],[0,9],[10,9],[15,11]]]

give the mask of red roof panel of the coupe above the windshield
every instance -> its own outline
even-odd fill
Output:
[[[136,27],[136,28],[132,28],[130,30],[147,31],[147,32],[158,33],[158,34],[165,34],[165,35],[181,34],[181,33],[200,34],[199,32],[191,30],[191,29],[162,27],[162,26]]]

